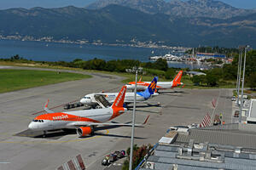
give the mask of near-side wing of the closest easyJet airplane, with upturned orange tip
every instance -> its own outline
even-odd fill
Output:
[[[148,122],[149,116],[145,119],[142,124],[135,124],[136,127],[143,127],[144,124]],[[128,126],[131,127],[131,123],[115,123],[115,122],[71,122],[68,124],[69,126]]]

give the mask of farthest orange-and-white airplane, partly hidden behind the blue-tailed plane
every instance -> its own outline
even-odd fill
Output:
[[[178,86],[182,86],[183,82],[181,81],[181,78],[183,76],[183,71],[179,71],[177,73],[177,76],[172,80],[172,82],[157,82],[156,90],[158,91],[159,89],[170,89],[170,88],[176,88]],[[137,90],[143,90],[148,87],[150,82],[137,82]],[[128,89],[134,89],[135,88],[135,82],[129,82],[126,84],[126,87]]]

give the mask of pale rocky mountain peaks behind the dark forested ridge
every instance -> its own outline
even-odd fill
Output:
[[[177,17],[208,17],[227,19],[256,13],[256,9],[235,8],[216,0],[97,0],[86,8],[99,9],[110,4],[134,8],[148,14],[170,14]]]

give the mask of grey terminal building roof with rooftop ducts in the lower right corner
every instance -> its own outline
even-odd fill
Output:
[[[253,124],[231,123],[169,129],[137,169],[256,169],[255,127]]]

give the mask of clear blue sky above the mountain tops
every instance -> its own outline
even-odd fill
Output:
[[[73,5],[84,7],[96,0],[0,0],[0,9],[4,8],[57,8]],[[170,0],[166,0],[170,1]],[[185,0],[184,0],[185,1]],[[219,0],[236,8],[256,8],[256,0]]]

